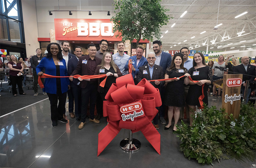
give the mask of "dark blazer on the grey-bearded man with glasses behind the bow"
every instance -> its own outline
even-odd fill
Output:
[[[143,74],[143,70],[147,70],[148,74]],[[145,78],[148,81],[149,80],[156,80],[156,79],[164,79],[163,68],[155,64],[153,74],[152,74],[152,79],[151,79],[148,64],[144,65],[144,66],[140,67],[139,74],[137,75],[137,82],[139,83],[143,78]],[[155,82],[150,82],[150,83],[155,88],[159,88],[164,83],[164,81],[160,81],[159,85],[156,85]]]

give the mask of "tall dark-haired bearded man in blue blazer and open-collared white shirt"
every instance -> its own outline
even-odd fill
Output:
[[[155,55],[156,56],[155,64],[162,67],[163,68],[163,73],[165,74],[166,68],[171,66],[172,55],[162,51],[162,43],[159,40],[153,41],[153,50],[156,54]],[[163,82],[163,84],[164,84],[164,82]],[[164,119],[164,115],[165,115],[165,105],[164,105],[165,88],[164,88],[163,85],[160,86],[159,91],[160,91],[161,99],[162,99],[162,106],[159,109],[160,121],[161,121],[162,124],[166,124],[166,121]]]

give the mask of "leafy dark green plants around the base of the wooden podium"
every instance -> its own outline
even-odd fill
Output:
[[[180,150],[190,160],[212,164],[221,159],[235,159],[242,163],[256,160],[256,111],[250,104],[241,104],[238,119],[226,117],[224,109],[216,107],[199,110],[194,116],[193,126],[181,122],[175,133],[180,137]],[[228,119],[227,119],[228,118]],[[228,156],[228,157],[227,157]],[[213,164],[212,164],[213,165]]]

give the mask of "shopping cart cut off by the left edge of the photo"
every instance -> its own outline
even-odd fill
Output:
[[[10,86],[9,71],[9,68],[0,68],[0,92],[6,89],[11,93],[12,87]]]

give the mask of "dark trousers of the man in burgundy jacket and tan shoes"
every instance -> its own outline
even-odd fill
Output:
[[[90,119],[94,119],[94,108],[97,99],[97,84],[88,83],[85,88],[82,88],[82,113],[81,122],[85,122],[87,106],[90,99]]]

